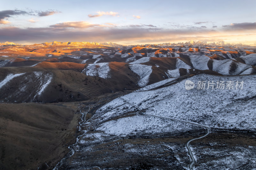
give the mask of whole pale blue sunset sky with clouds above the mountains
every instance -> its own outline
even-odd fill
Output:
[[[255,0],[0,0],[0,42],[256,45]]]

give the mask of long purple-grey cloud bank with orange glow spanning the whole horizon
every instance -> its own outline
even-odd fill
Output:
[[[106,23],[105,23],[106,24]],[[70,29],[72,28],[72,29]],[[81,29],[82,28],[82,29]],[[88,28],[88,29],[83,29]],[[93,28],[93,29],[90,29]],[[120,44],[149,44],[163,42],[180,42],[190,40],[226,39],[238,41],[252,41],[255,43],[256,30],[225,30],[215,31],[200,27],[192,28],[158,28],[144,25],[111,26],[99,25],[85,21],[70,21],[44,28],[0,28],[0,42],[22,41],[43,43],[49,41],[112,41]],[[237,38],[240,38],[239,40]]]

